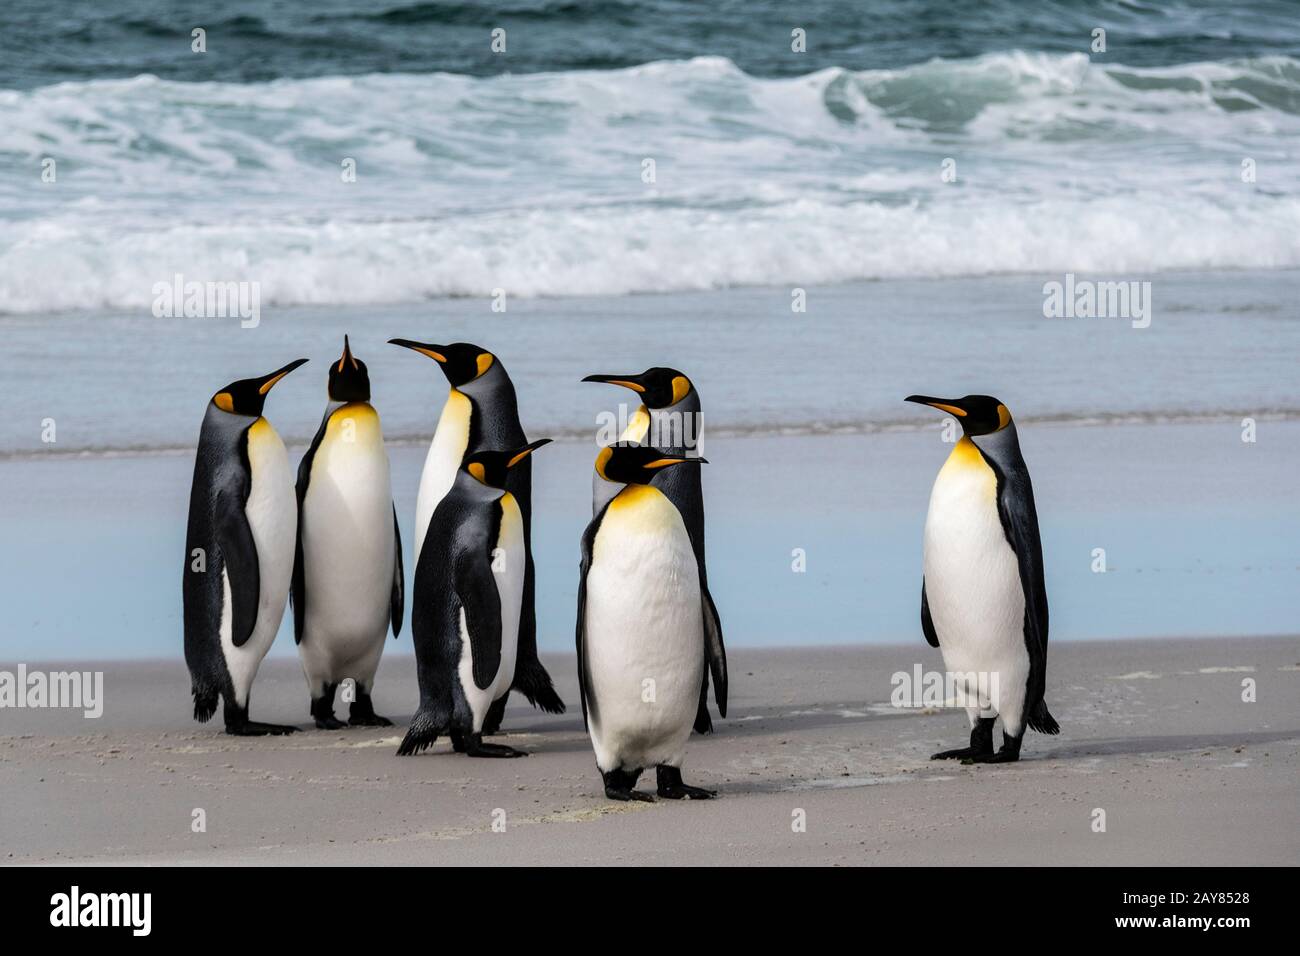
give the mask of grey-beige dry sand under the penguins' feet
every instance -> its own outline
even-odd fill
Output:
[[[532,754],[514,761],[445,741],[395,757],[410,658],[385,661],[376,697],[398,727],[260,739],[191,722],[181,663],[109,663],[98,721],[0,711],[0,861],[1300,864],[1300,639],[1053,646],[1062,734],[1031,734],[1005,766],[928,760],[963,743],[966,719],[889,705],[890,675],[916,662],[939,657],[733,650],[731,718],[693,739],[685,769],[719,797],[653,805],[604,799],[571,657],[547,657],[569,714],[512,705],[506,739]],[[268,661],[254,717],[307,727],[306,710],[298,665]]]

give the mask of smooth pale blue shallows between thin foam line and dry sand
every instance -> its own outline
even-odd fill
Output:
[[[1043,524],[1053,640],[1294,633],[1300,611],[1300,423],[1022,429]],[[706,472],[710,583],[740,645],[920,641],[920,531],[948,446],[937,428],[718,438]],[[534,467],[540,640],[573,640],[593,447]],[[411,541],[424,449],[395,449]],[[173,657],[181,646],[191,459],[0,462],[0,659]],[[1095,574],[1092,550],[1109,570]],[[792,571],[803,549],[806,572]],[[389,653],[410,653],[410,633]],[[289,617],[273,654],[295,653]]]

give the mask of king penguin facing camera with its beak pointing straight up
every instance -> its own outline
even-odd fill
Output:
[[[389,626],[402,632],[402,536],[378,412],[365,363],[343,337],[330,364],[329,403],[298,466],[294,640],[321,730],[344,726],[334,693],[355,683],[348,724],[389,727],[370,692]]]

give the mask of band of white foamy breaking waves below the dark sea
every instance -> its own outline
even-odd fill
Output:
[[[0,312],[147,308],[174,273],[326,304],[1300,267],[1287,57],[139,77],[0,91],[0,127],[31,170],[0,182]]]

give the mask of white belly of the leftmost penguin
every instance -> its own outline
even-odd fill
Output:
[[[257,601],[257,623],[239,648],[231,640],[230,578],[225,568],[221,570],[221,652],[239,706],[247,706],[248,689],[257,675],[257,666],[270,650],[285,617],[298,541],[298,501],[289,470],[289,454],[285,451],[285,442],[266,419],[257,419],[248,428],[248,470],[251,483],[244,515],[257,548],[261,593]]]

